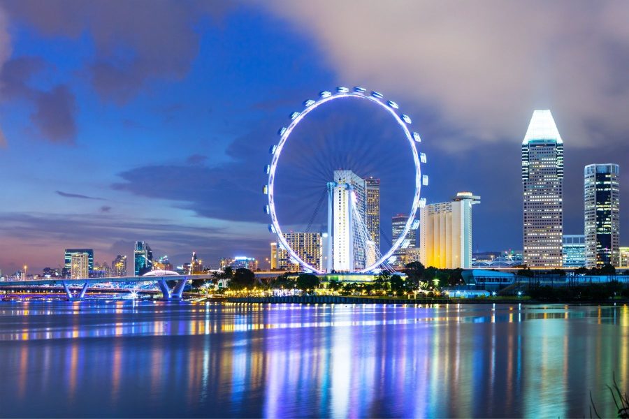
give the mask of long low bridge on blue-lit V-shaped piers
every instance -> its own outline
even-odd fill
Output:
[[[99,284],[102,282],[157,282],[157,286],[161,290],[163,300],[181,300],[182,293],[187,284],[187,281],[192,279],[213,279],[212,274],[199,274],[199,275],[168,275],[164,277],[104,277],[104,278],[76,278],[76,279],[31,279],[23,281],[0,281],[0,290],[10,290],[11,288],[29,288],[30,286],[62,286],[64,292],[68,296],[68,300],[83,300],[85,293],[91,284]],[[171,288],[168,286],[169,281],[175,281],[175,286]],[[70,286],[71,284],[81,284],[80,291],[73,294]]]

